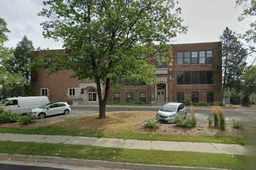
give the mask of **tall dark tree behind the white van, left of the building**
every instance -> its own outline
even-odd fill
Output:
[[[13,56],[4,59],[3,65],[10,74],[19,73],[26,84],[24,86],[13,89],[16,95],[28,96],[30,94],[30,79],[31,79],[31,59],[33,59],[33,43],[26,36],[17,43],[17,47],[13,50]]]

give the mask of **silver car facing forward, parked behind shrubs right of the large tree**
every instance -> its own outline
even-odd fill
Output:
[[[187,109],[184,104],[168,103],[164,104],[156,113],[156,119],[161,122],[174,123],[177,116],[186,116]]]

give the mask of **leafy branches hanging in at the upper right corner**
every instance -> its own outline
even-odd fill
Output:
[[[237,6],[243,7],[243,13],[238,18],[238,20],[244,20],[248,16],[256,16],[256,1],[255,0],[237,0],[236,1]],[[245,40],[246,43],[248,43],[248,53],[246,56],[252,56],[256,52],[256,20],[254,20],[250,24],[251,29],[246,31],[244,35],[241,36]],[[256,57],[253,56],[255,59],[253,60],[253,63],[256,61]],[[252,63],[252,64],[253,64]]]

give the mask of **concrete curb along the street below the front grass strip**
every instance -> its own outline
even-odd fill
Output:
[[[148,164],[132,164],[125,162],[109,162],[104,160],[83,160],[77,158],[62,158],[62,157],[48,157],[48,156],[33,156],[33,155],[18,155],[0,153],[0,163],[4,160],[36,162],[36,163],[50,163],[67,166],[94,166],[106,167],[116,169],[138,169],[138,170],[227,170],[218,168],[205,167],[187,167],[187,166],[162,166],[162,165],[148,165]],[[4,162],[6,163],[6,162]]]

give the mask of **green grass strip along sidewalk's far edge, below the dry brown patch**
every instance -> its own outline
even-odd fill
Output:
[[[10,134],[42,134],[42,135],[73,135],[73,136],[88,136],[88,137],[112,137],[118,139],[137,139],[137,140],[152,140],[152,141],[184,141],[198,143],[227,143],[227,144],[246,144],[246,137],[224,135],[172,135],[172,134],[156,134],[156,133],[134,133],[131,130],[125,130],[122,133],[114,132],[84,132],[77,128],[63,128],[58,126],[38,127],[38,128],[9,128],[0,127],[0,133]]]

